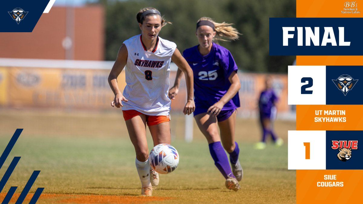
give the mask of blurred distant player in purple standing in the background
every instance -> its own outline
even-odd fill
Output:
[[[265,89],[261,92],[258,99],[258,108],[260,112],[260,123],[262,128],[262,140],[255,145],[255,148],[262,150],[266,148],[266,138],[271,135],[276,146],[281,146],[284,141],[278,138],[273,131],[273,121],[276,119],[276,102],[278,97],[272,88],[272,81],[269,76],[265,78]]]

